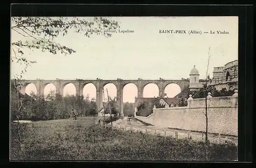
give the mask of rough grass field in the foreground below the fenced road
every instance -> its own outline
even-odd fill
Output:
[[[97,119],[98,120],[98,119]],[[236,160],[236,146],[174,139],[95,126],[93,117],[27,123],[11,135],[11,159]],[[207,151],[207,152],[206,152]]]

